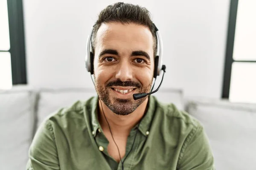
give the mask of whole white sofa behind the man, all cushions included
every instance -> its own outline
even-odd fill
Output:
[[[53,111],[95,96],[94,89],[0,91],[0,170],[25,169],[38,125]],[[256,105],[225,100],[184,99],[182,91],[161,88],[155,96],[188,111],[205,127],[217,170],[256,170]]]

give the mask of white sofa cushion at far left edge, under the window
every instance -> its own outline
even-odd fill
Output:
[[[0,91],[0,169],[26,166],[32,141],[36,94],[29,88]]]

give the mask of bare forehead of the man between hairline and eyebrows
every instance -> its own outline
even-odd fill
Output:
[[[134,23],[103,23],[96,34],[96,51],[112,48],[120,53],[143,50],[153,55],[151,31]]]

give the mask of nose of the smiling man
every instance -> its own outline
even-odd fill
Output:
[[[115,78],[120,79],[122,82],[131,80],[133,78],[131,65],[129,65],[129,63],[126,61],[121,62]]]

